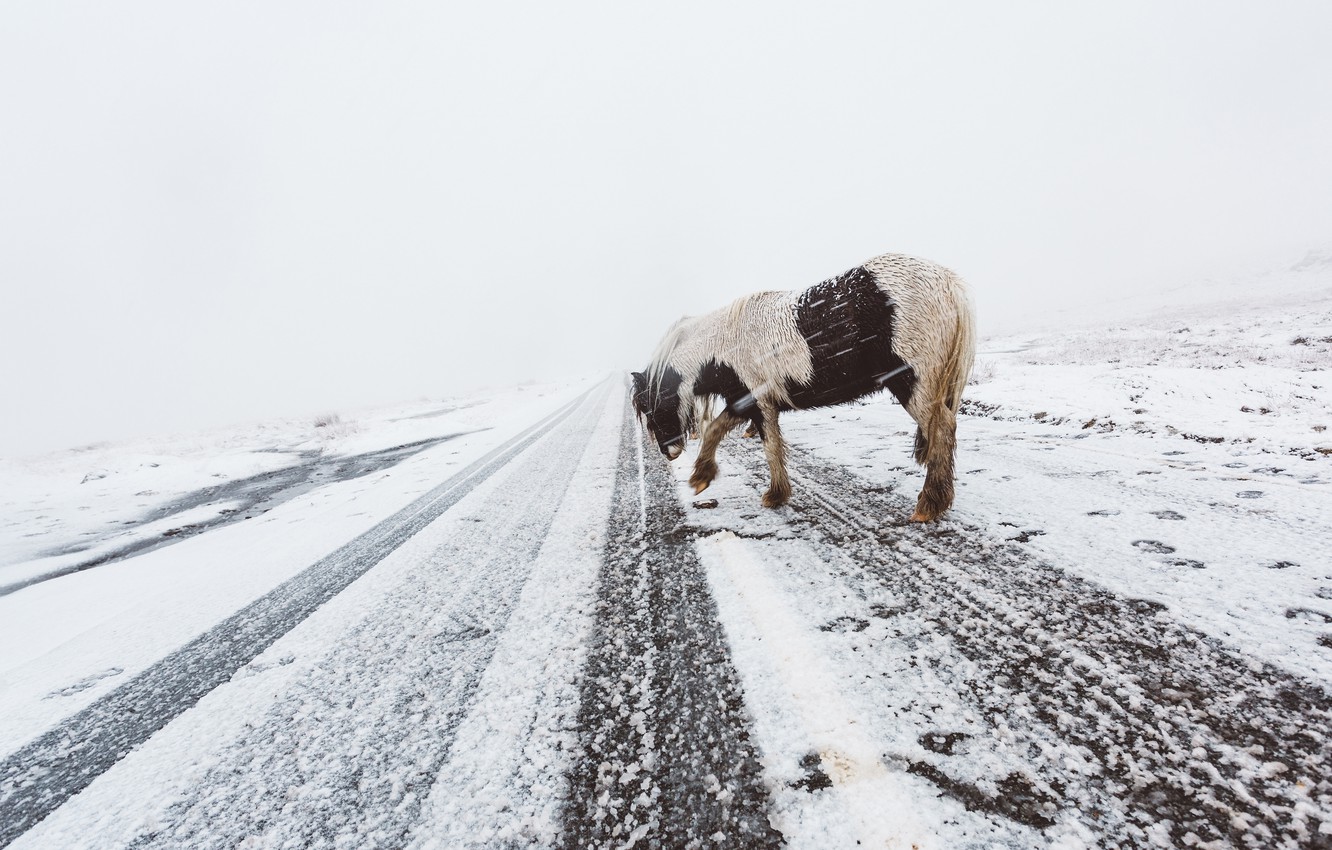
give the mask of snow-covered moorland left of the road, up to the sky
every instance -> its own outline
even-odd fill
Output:
[[[0,461],[0,588],[57,576],[0,596],[0,751],[92,703],[595,380],[364,410],[333,424],[285,420]],[[402,445],[420,452],[389,452]],[[396,462],[337,462],[368,454]],[[234,500],[213,498],[212,488],[284,469],[302,474],[248,513],[228,514]],[[321,474],[309,481],[305,470]],[[228,518],[194,536],[172,533]],[[60,574],[144,540],[163,545]]]

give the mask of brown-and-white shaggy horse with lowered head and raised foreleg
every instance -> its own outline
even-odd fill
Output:
[[[770,484],[765,508],[791,497],[778,414],[844,404],[887,389],[916,422],[914,456],[926,468],[912,522],[952,505],[958,406],[975,361],[967,285],[916,257],[882,254],[805,290],[757,292],[681,318],[633,373],[639,421],[667,460],[698,426],[689,478],[702,493],[717,478],[717,446],[741,422],[758,432]],[[699,422],[699,400],[726,406]]]

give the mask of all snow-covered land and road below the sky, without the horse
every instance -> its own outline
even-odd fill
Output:
[[[887,396],[783,417],[779,510],[601,378],[0,460],[0,814],[401,522],[16,846],[1319,846],[1332,262],[1261,286],[984,338],[928,528]]]

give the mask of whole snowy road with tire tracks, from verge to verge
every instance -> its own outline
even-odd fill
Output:
[[[5,739],[0,845],[1332,846],[1313,681],[910,482],[797,445],[771,512],[721,460],[693,506],[597,385]]]

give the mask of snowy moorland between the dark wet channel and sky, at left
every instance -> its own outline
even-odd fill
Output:
[[[265,474],[309,468],[308,477],[278,481],[289,485],[281,502],[324,484],[320,478],[377,472],[337,470],[338,461],[348,458],[370,456],[368,466],[373,466],[377,454],[448,441],[444,454],[461,461],[484,453],[482,446],[498,445],[506,432],[530,424],[542,405],[558,406],[557,398],[583,384],[529,385],[358,410],[345,418],[330,413],[27,457],[4,456],[0,449],[0,586],[56,573],[172,529],[225,518],[248,501],[244,496],[264,494]],[[384,466],[406,454],[388,456]],[[209,492],[256,478],[253,486],[237,488],[234,497]],[[202,504],[182,508],[194,501]],[[265,502],[250,513],[270,506]],[[157,514],[160,520],[144,522]]]

